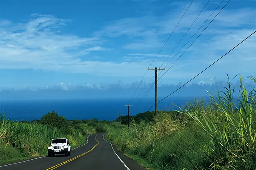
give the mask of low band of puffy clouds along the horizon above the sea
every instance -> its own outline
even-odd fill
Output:
[[[232,87],[239,87],[240,85],[240,81],[239,81],[239,77],[236,77],[235,79],[233,79],[233,77],[230,77],[230,81],[231,81],[231,85]],[[189,88],[190,91],[194,90],[199,90],[202,88],[209,88],[209,87],[214,87],[215,90],[217,89],[216,85],[219,85],[220,88],[226,87],[227,86],[227,77],[225,77],[225,81],[219,81],[217,79],[207,79],[207,80],[201,80],[198,81],[197,83],[188,83],[185,88]],[[250,79],[245,79],[242,80],[243,84],[245,85],[246,88],[248,88],[249,86],[253,86],[255,85],[255,82],[253,82]],[[136,95],[139,94],[139,92],[144,89],[144,87],[147,85],[147,81],[144,81],[140,84],[140,87],[138,89],[138,93],[136,93]],[[179,82],[176,84],[159,84],[159,88],[160,88],[160,93],[166,95],[166,90],[168,90],[168,92],[172,92],[174,90],[176,90],[178,87],[180,87],[181,85],[183,85],[185,82]],[[106,91],[108,93],[112,93],[111,91],[108,90],[117,90],[117,91],[134,91],[137,87],[138,87],[139,82],[132,82],[132,83],[124,83],[122,81],[118,81],[116,83],[82,83],[82,84],[72,84],[72,83],[64,83],[64,82],[60,82],[56,85],[53,86],[46,86],[46,87],[39,87],[39,86],[24,86],[24,87],[19,87],[19,88],[0,88],[0,92],[1,91],[14,91],[14,92],[18,92],[18,91],[51,91],[51,90],[61,90],[61,91],[82,91],[82,90],[101,90],[101,91]],[[150,83],[151,84],[151,83]],[[146,87],[146,90],[149,88],[150,86]],[[204,89],[203,89],[204,90]],[[152,89],[152,91],[154,91],[154,88]],[[95,92],[95,91],[94,91]],[[92,92],[92,93],[94,93]],[[184,92],[183,92],[184,93]],[[143,93],[142,93],[143,94]],[[141,94],[141,95],[142,95]],[[153,93],[152,93],[153,94]],[[186,94],[186,93],[184,93]],[[136,96],[135,95],[135,96]],[[129,94],[130,97],[130,94]]]

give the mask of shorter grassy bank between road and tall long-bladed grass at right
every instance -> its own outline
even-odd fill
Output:
[[[121,131],[118,124],[112,124],[107,129],[106,138],[148,168],[180,170],[184,165],[190,169],[198,167],[204,156],[200,150],[201,140],[207,141],[207,136],[197,132],[200,129],[195,123],[176,120],[177,117],[162,113],[155,122],[136,124],[132,121],[129,129],[122,125]]]

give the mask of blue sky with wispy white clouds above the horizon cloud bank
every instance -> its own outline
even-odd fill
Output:
[[[12,93],[15,92],[13,89],[40,89],[42,94],[44,90],[56,87],[67,91],[76,87],[100,89],[102,86],[115,87],[118,84],[124,89],[131,88],[129,94],[126,94],[131,97],[148,65],[164,45],[190,2],[1,1],[0,89],[10,89]],[[211,0],[207,4],[164,65],[220,2]],[[222,2],[196,36],[226,2]],[[206,3],[207,0],[195,0],[192,3],[150,67],[162,65]],[[255,0],[231,0],[180,60],[164,74],[159,85],[184,83],[224,55],[255,30],[255,12]],[[166,69],[196,36],[166,65]],[[255,75],[255,46],[256,36],[252,36],[192,83],[211,85],[215,81],[226,81],[226,74],[230,77],[237,74],[244,77]],[[147,71],[143,85],[153,75],[152,70]],[[186,92],[180,94],[184,95]]]

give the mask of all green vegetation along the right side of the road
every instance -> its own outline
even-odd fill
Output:
[[[256,83],[254,77],[249,77]],[[228,79],[209,105],[187,103],[179,111],[146,113],[132,119],[130,129],[107,126],[106,138],[140,164],[155,170],[256,169],[256,88],[247,91],[240,77],[238,98]],[[233,98],[237,98],[234,100]],[[118,119],[117,119],[118,121]],[[122,123],[127,118],[122,117]]]

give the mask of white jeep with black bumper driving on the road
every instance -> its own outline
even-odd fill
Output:
[[[55,154],[65,154],[65,156],[70,156],[71,146],[69,144],[68,138],[58,138],[52,139],[48,147],[48,156],[55,156]]]

